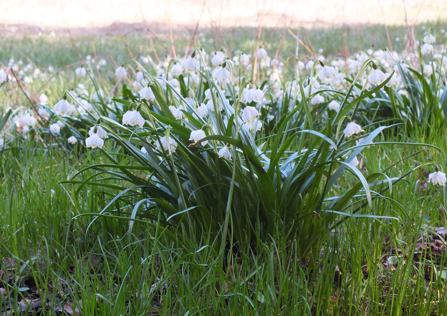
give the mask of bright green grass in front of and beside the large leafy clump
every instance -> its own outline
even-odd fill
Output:
[[[447,150],[446,132],[429,142]],[[87,186],[76,194],[76,187],[59,181],[72,176],[76,164],[90,164],[94,152],[78,161],[74,153],[26,140],[14,147],[2,153],[0,167],[0,282],[8,297],[2,308],[20,309],[22,299],[40,297],[49,304],[46,315],[59,315],[55,310],[64,302],[82,315],[431,315],[447,310],[446,286],[438,277],[445,251],[442,243],[427,239],[435,238],[430,230],[443,220],[439,205],[445,191],[432,185],[421,189],[422,171],[393,188],[391,197],[400,207],[380,199],[371,210],[362,210],[398,215],[401,221],[347,218],[330,233],[322,264],[308,271],[284,231],[271,242],[251,249],[233,245],[223,254],[206,236],[194,253],[149,226],[139,225],[128,236],[127,223],[114,218],[97,219],[88,228],[92,216],[72,218],[99,211],[117,191]],[[363,166],[375,172],[380,164],[414,152],[371,146]],[[392,174],[439,159],[433,154],[419,153],[414,165],[413,159],[405,160]],[[30,315],[40,315],[39,310]]]

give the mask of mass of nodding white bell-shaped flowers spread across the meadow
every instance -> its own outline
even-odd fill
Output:
[[[447,67],[446,47],[436,46],[435,43],[435,38],[429,33],[426,34],[423,41],[418,43],[421,54],[429,55],[425,59],[430,59],[426,64],[420,65],[420,71],[423,71],[426,76],[431,76],[436,71],[442,71],[445,75],[445,68]],[[232,56],[230,52],[225,50],[207,53],[204,49],[201,49],[194,50],[191,55],[185,58],[176,57],[174,59],[167,56],[155,66],[154,73],[156,75],[154,77],[140,67],[141,64],[152,64],[152,59],[148,56],[141,56],[141,64],[135,71],[127,64],[122,64],[122,66],[118,66],[114,70],[116,79],[128,79],[130,82],[133,82],[135,93],[132,93],[135,97],[134,100],[139,99],[139,102],[135,101],[139,103],[138,106],[135,105],[135,108],[131,107],[128,111],[123,111],[121,105],[114,104],[111,95],[107,95],[104,91],[97,90],[92,86],[87,74],[93,74],[91,69],[94,66],[99,70],[102,66],[106,66],[107,62],[105,59],[96,61],[95,58],[88,55],[85,57],[82,66],[78,66],[74,71],[76,84],[70,87],[72,90],[68,91],[69,95],[64,94],[63,98],[54,105],[53,111],[51,111],[50,106],[52,103],[49,104],[46,95],[41,94],[38,97],[38,116],[35,116],[33,111],[28,110],[15,115],[13,121],[23,131],[28,131],[34,128],[40,119],[45,119],[49,121],[46,126],[49,127],[51,134],[63,137],[67,134],[66,131],[70,126],[66,119],[67,115],[75,115],[82,118],[86,118],[90,114],[98,116],[97,105],[104,103],[106,108],[117,110],[120,113],[118,115],[122,115],[123,125],[135,127],[137,130],[144,130],[151,124],[146,124],[143,116],[147,115],[147,111],[143,111],[145,108],[142,110],[141,107],[142,104],[157,106],[156,95],[154,94],[156,90],[152,90],[155,86],[156,89],[161,87],[163,96],[167,96],[169,110],[177,123],[190,129],[190,140],[193,141],[193,144],[196,146],[210,146],[208,140],[202,141],[200,144],[198,142],[205,138],[207,133],[211,135],[211,133],[215,132],[216,127],[211,119],[212,114],[216,114],[215,111],[223,111],[224,108],[228,109],[228,107],[236,109],[238,101],[242,101],[245,104],[242,103],[237,108],[238,111],[237,113],[235,112],[235,115],[240,115],[240,119],[244,122],[244,132],[253,135],[253,137],[256,136],[257,131],[262,130],[263,123],[268,123],[274,119],[275,116],[269,113],[270,103],[284,103],[284,106],[289,110],[294,106],[295,100],[301,101],[303,98],[306,98],[312,106],[320,104],[324,105],[324,107],[327,106],[327,111],[324,113],[326,117],[337,115],[335,112],[341,111],[345,103],[342,102],[342,98],[339,95],[331,91],[338,90],[347,93],[349,84],[346,84],[345,78],[349,76],[354,77],[361,67],[364,67],[364,71],[360,74],[359,82],[369,83],[371,86],[368,86],[368,88],[383,85],[388,80],[386,87],[396,89],[400,94],[405,94],[405,89],[401,88],[403,86],[401,72],[405,72],[409,67],[416,69],[414,63],[411,62],[414,60],[414,57],[412,52],[399,54],[388,50],[374,51],[368,49],[365,52],[356,53],[346,60],[340,58],[331,60],[327,56],[325,57],[323,50],[320,49],[318,54],[313,55],[312,58],[304,57],[297,60],[293,69],[295,77],[292,80],[288,80],[284,76],[284,63],[278,60],[277,57],[269,57],[267,50],[263,47],[257,47],[253,55],[240,50],[234,52]],[[32,78],[39,76],[44,78],[46,76],[45,72],[41,72],[37,68],[34,69],[34,66],[30,64],[24,65],[21,60],[15,62],[12,58],[8,66],[11,67],[14,74],[17,73],[17,78],[25,83],[31,82]],[[53,67],[49,66],[46,73],[49,74],[54,71]],[[261,80],[242,85],[241,78],[247,72],[251,75],[252,71],[253,74],[256,73],[258,75],[261,72],[261,76],[267,83],[255,86],[255,84],[258,85],[258,83],[264,81]],[[202,74],[204,74],[203,78]],[[305,80],[303,87],[301,87],[300,81],[295,78],[306,77],[309,80]],[[210,82],[208,82],[207,90],[197,89],[198,91],[194,91],[200,81],[208,78],[211,79],[213,84],[219,86],[221,91],[216,91],[215,88],[211,87]],[[245,78],[252,77],[247,76]],[[3,69],[0,69],[0,85],[6,80],[15,80],[15,78],[5,73]],[[188,95],[192,95],[190,92],[194,91],[196,97],[184,98],[185,87]],[[242,90],[239,91],[239,89]],[[226,98],[222,98],[220,92]],[[351,91],[352,95],[358,95],[359,93],[361,91],[357,89]],[[437,93],[439,94],[439,91]],[[70,98],[67,98],[68,96]],[[283,102],[286,98],[287,102]],[[261,117],[261,111],[265,113],[265,117]],[[189,114],[200,122],[208,123],[209,127],[195,129],[198,126],[194,127],[192,123],[194,120],[190,119]],[[229,119],[227,114],[222,113],[222,117],[224,124],[227,125]],[[110,118],[112,119],[112,115]],[[116,119],[116,116],[113,116],[113,119]],[[148,121],[148,123],[150,122]],[[363,129],[360,125],[350,122],[346,125],[343,132],[346,137],[350,137],[363,132]],[[70,134],[67,142],[75,145],[80,138],[81,136],[78,133]],[[103,148],[104,140],[107,138],[108,135],[105,129],[100,125],[95,125],[90,128],[89,137],[85,139],[85,145],[88,148]],[[162,135],[160,139],[155,141],[154,145],[159,151],[172,153],[177,148],[177,141],[177,135],[171,134],[169,137]],[[356,144],[364,145],[364,141],[364,137],[358,138]],[[220,145],[219,157],[231,159],[231,146],[229,144]],[[141,148],[141,151],[147,153],[144,146]],[[354,157],[349,163],[357,166],[359,162],[357,157]],[[443,173],[441,172],[430,174],[429,181],[434,184],[444,185],[445,175],[444,178],[442,178],[442,175]]]

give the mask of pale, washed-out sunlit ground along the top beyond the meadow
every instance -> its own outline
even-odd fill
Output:
[[[1,1],[2,33],[110,28],[123,22],[153,28],[182,26],[329,27],[409,25],[444,21],[445,0],[36,0]],[[26,27],[24,26],[26,25]]]

